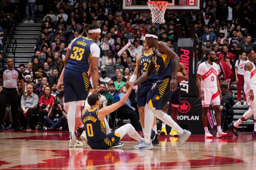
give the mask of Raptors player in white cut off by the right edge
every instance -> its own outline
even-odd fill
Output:
[[[240,123],[248,119],[251,115],[254,116],[254,130],[252,131],[252,136],[256,137],[256,68],[253,63],[256,54],[252,49],[246,51],[247,61],[244,65],[244,92],[246,95],[247,105],[249,105],[249,110],[247,110],[244,115],[238,119],[234,124],[228,125],[229,129],[238,137],[237,127]]]

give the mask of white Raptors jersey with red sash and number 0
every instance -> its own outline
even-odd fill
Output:
[[[202,75],[202,87],[215,87],[217,85],[217,77],[219,74],[218,65],[213,62],[209,64],[207,61],[199,64],[197,74]]]

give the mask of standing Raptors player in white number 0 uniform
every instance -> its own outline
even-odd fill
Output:
[[[197,70],[197,86],[199,90],[200,99],[203,105],[202,120],[204,124],[205,137],[212,137],[207,127],[207,112],[212,103],[215,111],[215,119],[217,122],[217,137],[228,136],[227,133],[221,130],[221,116],[220,116],[220,99],[222,99],[220,91],[220,83],[218,78],[218,65],[214,63],[216,54],[214,51],[207,51],[202,63]],[[201,82],[202,81],[202,82]]]

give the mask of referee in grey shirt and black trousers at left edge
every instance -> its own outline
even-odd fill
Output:
[[[22,129],[20,128],[20,120],[18,113],[18,92],[16,90],[17,80],[20,80],[20,86],[23,91],[24,100],[27,100],[27,96],[25,93],[25,85],[20,70],[13,67],[12,59],[8,58],[6,63],[8,67],[0,71],[0,82],[3,79],[4,84],[0,97],[0,132],[3,131],[3,116],[5,114],[5,109],[8,102],[10,102],[11,106],[13,131],[22,131]]]

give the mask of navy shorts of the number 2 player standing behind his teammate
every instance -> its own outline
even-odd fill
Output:
[[[144,107],[149,98],[150,93],[152,92],[151,88],[156,84],[157,80],[143,82],[140,84],[137,92],[137,104],[138,107]]]

